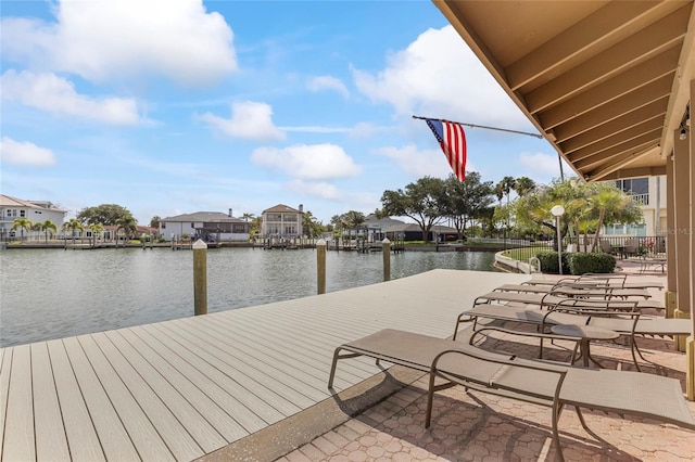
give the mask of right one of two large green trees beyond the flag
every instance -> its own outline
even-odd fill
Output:
[[[443,214],[452,219],[458,239],[463,240],[466,223],[482,218],[482,213],[492,203],[492,181],[481,181],[480,174],[467,171],[466,181],[450,175],[444,181]]]

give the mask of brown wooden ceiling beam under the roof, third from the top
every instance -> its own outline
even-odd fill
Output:
[[[672,47],[667,52],[634,66],[630,72],[616,76],[542,112],[540,117],[543,119],[543,125],[546,127],[558,126],[578,115],[608,104],[635,88],[660,77],[672,75],[675,72],[674,64],[678,63],[680,52],[679,48]]]

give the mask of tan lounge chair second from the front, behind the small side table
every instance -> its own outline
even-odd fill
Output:
[[[637,356],[645,362],[650,362],[642,355],[636,343],[636,336],[670,336],[688,335],[691,323],[687,319],[664,319],[664,318],[640,318],[640,312],[611,312],[603,309],[590,309],[574,306],[567,301],[551,307],[547,310],[514,308],[495,304],[480,304],[468,311],[460,313],[456,320],[453,338],[456,339],[459,328],[463,323],[472,322],[473,332],[478,331],[478,320],[490,319],[498,321],[514,321],[525,324],[540,326],[540,332],[545,332],[546,326],[558,324],[591,325],[594,328],[615,331],[628,337],[632,360],[637,371],[640,363]],[[472,337],[471,337],[472,341]],[[543,341],[541,338],[541,350],[543,354]]]

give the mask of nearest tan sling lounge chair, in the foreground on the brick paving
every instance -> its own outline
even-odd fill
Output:
[[[552,408],[553,441],[560,460],[564,457],[558,422],[567,405],[574,406],[582,426],[590,433],[581,409],[639,415],[695,431],[680,382],[660,375],[572,368],[486,351],[459,342],[383,330],[336,348],[329,388],[338,360],[358,356],[429,373],[426,427],[431,423],[434,392],[455,385]],[[435,384],[438,377],[445,383]]]

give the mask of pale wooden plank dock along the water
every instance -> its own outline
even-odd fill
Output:
[[[330,398],[333,349],[383,328],[446,337],[525,274],[387,283],[0,349],[1,461],[190,461]],[[336,389],[379,372],[345,361]]]

